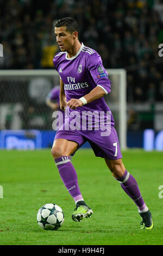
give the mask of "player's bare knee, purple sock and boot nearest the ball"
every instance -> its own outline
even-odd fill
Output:
[[[68,141],[64,138],[55,139],[52,147],[52,155],[61,179],[76,203],[76,209],[72,214],[73,221],[81,221],[84,217],[90,217],[93,213],[84,202],[79,190],[77,172],[70,161],[70,155],[77,149],[77,142]]]

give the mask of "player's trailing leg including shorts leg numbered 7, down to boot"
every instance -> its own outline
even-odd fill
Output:
[[[133,199],[142,217],[141,228],[153,228],[152,215],[142,199],[135,178],[126,170],[122,162],[120,143],[113,126],[106,126],[105,133],[101,130],[89,131],[85,134],[96,156],[101,156],[112,172],[114,178],[120,182],[123,190]]]

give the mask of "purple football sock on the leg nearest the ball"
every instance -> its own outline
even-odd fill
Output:
[[[70,161],[70,157],[61,156],[54,161],[59,170],[61,179],[74,201],[77,202],[78,200],[83,200],[82,194],[79,190],[77,173]]]

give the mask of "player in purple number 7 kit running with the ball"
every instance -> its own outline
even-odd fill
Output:
[[[152,214],[141,196],[135,178],[126,170],[122,162],[114,118],[104,100],[104,95],[111,91],[111,82],[102,59],[95,50],[86,47],[78,40],[78,23],[74,19],[71,17],[60,19],[55,22],[54,27],[61,51],[55,54],[53,63],[60,75],[60,108],[64,110],[67,107],[67,114],[65,124],[55,135],[52,155],[62,181],[76,203],[72,220],[81,221],[93,213],[82,197],[77,172],[70,161],[70,156],[88,141],[95,155],[104,158],[114,178],[133,199],[141,216],[141,229],[152,229]],[[96,112],[99,116],[104,113],[104,122],[100,129],[97,129],[98,122],[90,120],[89,117],[86,118],[87,124],[84,129],[79,129],[81,126],[76,130],[71,127],[67,129],[74,113],[83,117],[85,112]],[[108,130],[103,135],[104,127]]]

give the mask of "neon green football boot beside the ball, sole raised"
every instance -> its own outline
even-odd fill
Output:
[[[77,202],[76,209],[74,209],[72,214],[72,220],[81,222],[83,218],[90,218],[92,214],[92,209],[89,208],[84,201],[79,201]]]

